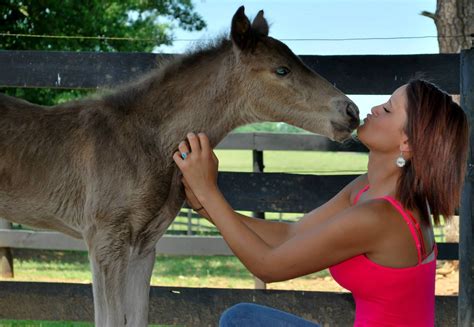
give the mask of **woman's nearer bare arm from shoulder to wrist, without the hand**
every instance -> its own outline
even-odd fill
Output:
[[[379,200],[380,201],[380,200]],[[364,203],[272,246],[239,219],[218,190],[203,199],[223,238],[247,269],[271,283],[307,275],[377,249],[384,223],[377,215],[385,203]],[[218,213],[218,214],[217,214]]]

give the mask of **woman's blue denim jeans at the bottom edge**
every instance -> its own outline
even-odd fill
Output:
[[[253,303],[236,304],[221,315],[219,327],[316,327],[291,313]]]

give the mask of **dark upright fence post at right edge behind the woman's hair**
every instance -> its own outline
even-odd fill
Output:
[[[458,326],[474,324],[474,48],[461,52],[461,106],[470,127],[468,171],[459,222]],[[455,160],[455,158],[453,158]]]

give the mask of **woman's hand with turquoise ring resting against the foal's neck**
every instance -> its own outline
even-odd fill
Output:
[[[207,195],[217,190],[219,161],[204,133],[198,135],[189,133],[188,142],[191,149],[188,149],[185,141],[181,142],[179,151],[173,155],[173,160],[183,173],[188,188],[197,201],[202,203]]]

